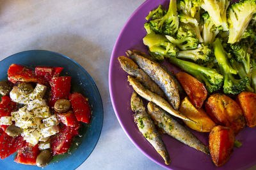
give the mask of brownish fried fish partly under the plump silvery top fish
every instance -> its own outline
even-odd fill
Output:
[[[142,69],[140,69],[132,59],[121,56],[118,57],[118,60],[122,69],[124,69],[126,73],[134,76],[136,80],[140,81],[152,92],[155,92],[159,96],[164,97],[164,92],[160,89],[160,87],[158,87],[158,85],[153,80],[151,80],[151,78]]]

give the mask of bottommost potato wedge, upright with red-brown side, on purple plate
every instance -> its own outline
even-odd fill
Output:
[[[235,135],[229,127],[216,126],[209,134],[209,150],[215,166],[223,166],[232,153]]]

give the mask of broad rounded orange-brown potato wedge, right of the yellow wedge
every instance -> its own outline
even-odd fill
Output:
[[[245,126],[243,110],[224,94],[212,94],[205,102],[205,111],[216,124],[230,127],[236,135]]]

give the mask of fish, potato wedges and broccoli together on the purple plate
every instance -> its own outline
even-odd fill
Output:
[[[134,89],[138,130],[165,164],[171,161],[161,133],[223,166],[242,145],[236,135],[256,126],[256,1],[170,0],[146,20],[149,55],[128,50],[128,57],[118,57]],[[170,72],[164,60],[180,72]],[[209,132],[209,146],[186,126]]]

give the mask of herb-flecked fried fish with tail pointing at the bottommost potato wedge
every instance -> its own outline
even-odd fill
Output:
[[[148,114],[154,120],[156,125],[163,130],[164,133],[172,136],[178,141],[184,143],[185,145],[195,148],[205,154],[209,155],[209,150],[207,146],[204,145],[196,136],[194,136],[188,129],[179,124],[177,120],[173,119],[171,115],[166,113],[156,104],[150,102],[148,103]]]

